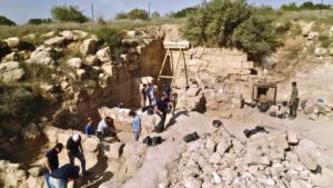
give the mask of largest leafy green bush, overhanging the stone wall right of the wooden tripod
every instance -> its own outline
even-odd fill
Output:
[[[245,0],[212,0],[190,14],[183,34],[194,46],[238,47],[259,58],[278,44],[273,16]]]

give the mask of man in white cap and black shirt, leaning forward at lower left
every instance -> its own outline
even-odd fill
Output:
[[[74,159],[78,158],[81,162],[82,175],[85,176],[85,159],[81,145],[81,137],[77,133],[71,136],[67,141],[67,154],[70,159],[70,164],[74,165]]]

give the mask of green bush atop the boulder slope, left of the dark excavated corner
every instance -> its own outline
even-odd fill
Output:
[[[115,52],[117,47],[121,46],[121,41],[124,37],[123,32],[119,29],[108,27],[100,28],[95,31],[95,34],[102,42],[107,43],[113,52]]]

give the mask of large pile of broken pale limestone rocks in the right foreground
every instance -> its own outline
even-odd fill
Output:
[[[332,160],[321,149],[296,131],[240,141],[223,129],[188,146],[170,172],[169,187],[332,187]]]

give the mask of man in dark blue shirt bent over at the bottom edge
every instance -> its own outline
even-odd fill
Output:
[[[67,188],[68,182],[79,178],[78,166],[67,164],[54,171],[52,171],[50,177],[51,188]]]

